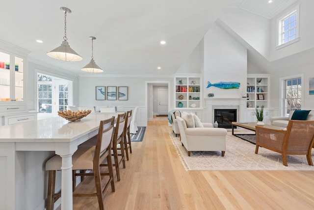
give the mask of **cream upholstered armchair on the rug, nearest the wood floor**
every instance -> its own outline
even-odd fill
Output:
[[[204,127],[187,128],[185,120],[181,117],[176,119],[181,142],[188,156],[191,155],[191,151],[221,151],[221,156],[225,155],[227,135],[225,128],[213,128],[211,123],[204,123]],[[210,124],[211,127],[208,127]]]

